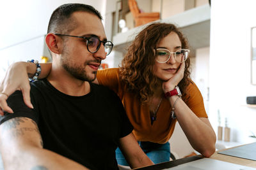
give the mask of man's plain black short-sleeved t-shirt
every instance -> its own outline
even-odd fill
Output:
[[[115,149],[118,139],[132,132],[124,107],[115,94],[90,83],[85,96],[68,96],[46,79],[31,83],[29,109],[16,91],[7,100],[14,114],[5,114],[0,124],[13,117],[28,117],[38,125],[44,148],[90,169],[118,169]]]

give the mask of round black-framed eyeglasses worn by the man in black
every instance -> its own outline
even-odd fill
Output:
[[[65,34],[55,34],[55,35],[57,35],[57,36],[70,36],[70,35],[65,35]],[[100,48],[100,43],[103,44],[106,55],[109,55],[109,53],[112,51],[112,48],[113,48],[113,43],[111,41],[100,41],[100,39],[97,36],[91,36],[91,37],[71,36],[71,37],[83,38],[84,40],[86,40],[87,50],[90,53],[97,52]]]

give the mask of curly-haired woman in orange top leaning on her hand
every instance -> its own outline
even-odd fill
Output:
[[[176,121],[196,151],[205,157],[215,152],[216,136],[207,118],[202,95],[191,81],[188,53],[188,42],[175,25],[154,23],[136,36],[121,67],[97,73],[95,83],[108,86],[118,94],[134,126],[134,136],[154,163],[170,160],[168,140]],[[24,80],[28,77],[26,67],[30,76],[35,74],[34,65],[25,62],[14,65],[0,91],[8,95],[15,89],[26,91],[23,92],[24,101],[32,107],[26,97],[29,96],[28,81]],[[50,69],[51,64],[42,64],[41,77]],[[6,89],[8,83],[12,86]],[[6,98],[0,95],[0,106],[8,111]],[[127,165],[118,149],[116,159],[118,164]]]

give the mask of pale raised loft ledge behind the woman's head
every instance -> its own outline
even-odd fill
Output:
[[[172,23],[180,27],[180,30],[186,35],[191,46],[191,56],[196,48],[209,46],[210,43],[210,20],[211,8],[209,4],[198,6],[191,10],[186,10],[158,22]],[[118,33],[113,36],[114,49],[118,52],[125,53],[126,47],[131,44],[135,36],[145,25],[135,27],[127,32]]]

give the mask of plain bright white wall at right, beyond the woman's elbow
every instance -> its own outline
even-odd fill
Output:
[[[225,117],[231,128],[231,140],[247,143],[256,133],[256,108],[242,106],[246,96],[256,96],[250,83],[251,27],[256,26],[256,1],[211,1],[210,106],[214,129]],[[255,141],[255,140],[254,140]]]

